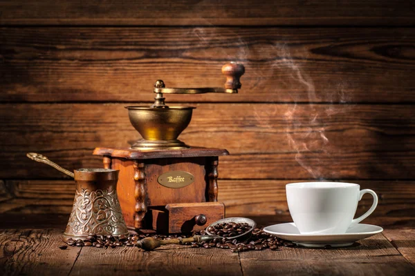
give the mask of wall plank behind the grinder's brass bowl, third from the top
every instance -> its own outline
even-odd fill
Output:
[[[411,105],[196,104],[179,137],[225,147],[219,178],[415,179]],[[1,179],[64,178],[26,157],[39,152],[69,170],[102,168],[97,146],[126,147],[140,135],[124,105],[0,105]]]

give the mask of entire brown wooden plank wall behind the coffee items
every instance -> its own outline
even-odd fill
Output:
[[[0,212],[70,213],[72,182],[26,152],[101,166],[93,148],[139,138],[124,106],[156,79],[223,86],[240,61],[238,95],[167,95],[196,106],[183,141],[230,151],[228,216],[289,219],[286,183],[333,179],[380,195],[369,222],[415,224],[411,1],[80,2],[0,0]]]

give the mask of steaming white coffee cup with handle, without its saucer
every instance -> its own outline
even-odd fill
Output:
[[[371,208],[353,219],[365,193],[374,197]],[[341,234],[367,218],[378,205],[373,190],[360,190],[358,184],[342,182],[302,182],[286,185],[288,208],[299,233]]]

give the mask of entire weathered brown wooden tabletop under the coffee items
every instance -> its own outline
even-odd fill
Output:
[[[50,224],[54,228],[2,224],[0,275],[415,275],[414,228],[385,229],[338,249],[232,253],[172,245],[153,252],[127,247],[62,250],[64,219]]]

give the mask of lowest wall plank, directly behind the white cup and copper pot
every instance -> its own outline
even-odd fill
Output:
[[[285,185],[296,181],[299,180],[219,179],[218,199],[225,204],[226,217],[266,216],[257,221],[261,226],[292,221],[286,204]],[[415,226],[414,181],[356,180],[353,182],[360,184],[362,189],[374,190],[379,197],[378,207],[368,219],[365,219],[365,223],[378,224],[382,227]],[[0,213],[9,214],[6,220],[0,219],[0,221],[9,221],[12,215],[55,217],[71,213],[74,197],[73,181],[13,180],[6,181],[6,184],[12,199],[0,202]],[[369,195],[363,197],[359,202],[357,215],[365,213],[371,203],[372,199]],[[64,219],[57,221],[60,224],[67,222]],[[45,223],[42,222],[42,225]],[[8,228],[13,225],[20,227],[17,222],[10,224]],[[59,224],[52,225],[57,227]]]

